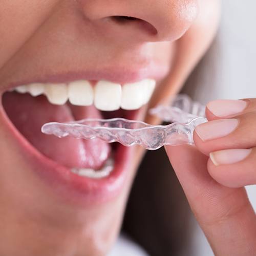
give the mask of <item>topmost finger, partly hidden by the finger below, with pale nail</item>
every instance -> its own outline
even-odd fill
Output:
[[[256,99],[242,100],[214,100],[206,105],[206,118],[215,120],[220,118],[231,118],[256,110]]]

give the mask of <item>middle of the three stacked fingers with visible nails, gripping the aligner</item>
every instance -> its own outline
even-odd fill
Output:
[[[194,141],[205,155],[229,148],[256,145],[256,111],[229,119],[212,120],[196,127]]]

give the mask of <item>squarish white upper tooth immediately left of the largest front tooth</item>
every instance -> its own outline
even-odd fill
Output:
[[[93,103],[93,88],[88,81],[69,83],[69,101],[73,105],[89,106]]]

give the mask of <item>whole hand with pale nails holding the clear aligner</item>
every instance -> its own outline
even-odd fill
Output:
[[[206,117],[195,146],[168,146],[167,155],[215,254],[256,255],[256,215],[243,187],[256,184],[256,99],[211,101]]]

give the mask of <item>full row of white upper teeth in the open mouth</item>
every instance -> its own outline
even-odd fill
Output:
[[[18,93],[30,93],[32,96],[45,94],[52,104],[62,105],[70,101],[73,105],[88,106],[93,102],[97,109],[114,111],[139,109],[146,104],[155,89],[156,81],[144,79],[140,82],[119,83],[98,81],[93,87],[87,80],[66,83],[30,83],[16,87]]]

